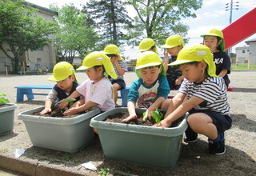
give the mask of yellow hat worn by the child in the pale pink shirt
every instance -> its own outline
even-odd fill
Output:
[[[103,66],[106,74],[110,75],[111,78],[118,78],[110,58],[107,57],[106,54],[99,51],[94,51],[86,55],[86,58],[84,58],[82,61],[82,66],[80,66],[77,70],[87,70],[94,66]]]

